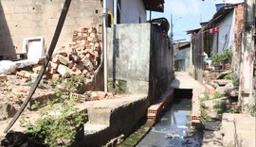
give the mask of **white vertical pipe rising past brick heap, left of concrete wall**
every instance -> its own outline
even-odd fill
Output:
[[[107,92],[107,0],[103,0],[104,92]]]

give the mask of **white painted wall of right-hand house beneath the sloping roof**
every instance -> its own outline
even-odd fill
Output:
[[[234,44],[235,12],[232,10],[221,22],[218,39],[218,53]]]

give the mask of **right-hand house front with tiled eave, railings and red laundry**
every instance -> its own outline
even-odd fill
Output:
[[[192,74],[201,82],[205,57],[210,57],[213,53],[223,54],[227,49],[232,50],[231,68],[239,76],[243,8],[243,3],[220,8],[210,22],[201,23],[201,28],[187,31],[192,34]]]

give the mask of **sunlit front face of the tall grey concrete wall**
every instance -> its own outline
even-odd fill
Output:
[[[150,29],[150,24],[118,24],[109,30],[108,77],[127,81],[128,92],[148,92]]]

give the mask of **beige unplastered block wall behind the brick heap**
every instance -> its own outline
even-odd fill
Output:
[[[27,37],[44,36],[48,48],[63,5],[64,0],[1,0],[0,22],[4,23],[0,23],[0,54],[10,52],[13,46],[20,53]],[[101,17],[101,0],[72,0],[57,47],[67,46],[73,30],[91,22],[101,36]]]

